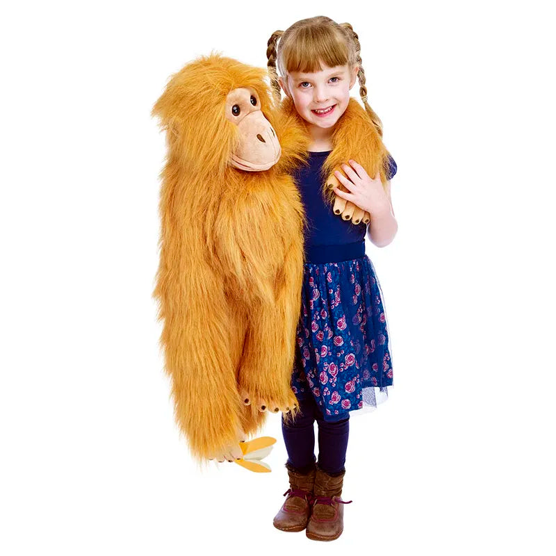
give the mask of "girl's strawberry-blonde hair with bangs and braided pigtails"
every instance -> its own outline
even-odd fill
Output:
[[[268,40],[266,57],[272,91],[281,99],[280,76],[289,72],[313,73],[322,70],[320,63],[328,67],[349,65],[350,70],[358,65],[359,95],[379,136],[382,137],[382,122],[367,102],[365,72],[361,63],[359,37],[349,23],[337,24],[324,15],[300,19],[286,31],[275,31]]]

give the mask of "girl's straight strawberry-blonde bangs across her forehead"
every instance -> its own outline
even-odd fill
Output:
[[[290,37],[279,56],[280,72],[314,73],[324,68],[350,63],[349,50],[345,38],[338,37],[336,31],[327,27],[305,27],[296,30],[295,38]]]

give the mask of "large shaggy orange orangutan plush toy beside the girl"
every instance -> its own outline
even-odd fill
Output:
[[[304,213],[289,174],[309,139],[265,70],[219,54],[174,74],[152,113],[167,138],[154,297],[174,414],[194,459],[229,458],[265,411],[299,411]]]

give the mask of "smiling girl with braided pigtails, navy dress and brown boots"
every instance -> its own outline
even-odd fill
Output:
[[[351,502],[340,498],[350,412],[376,407],[393,384],[382,292],[365,254],[368,218],[349,221],[359,209],[359,214],[369,213],[370,240],[388,245],[398,228],[389,182],[384,188],[380,172],[371,178],[366,168],[350,160],[342,165],[345,176],[334,173],[344,186],[333,188],[334,206],[321,187],[325,161],[332,158],[341,140],[339,130],[347,125],[341,117],[352,106],[350,89],[357,77],[366,129],[377,138],[389,169],[386,179],[396,167],[382,145],[382,124],[366,101],[359,40],[350,24],[338,25],[328,17],[302,19],[272,34],[267,55],[273,87],[278,95],[284,90],[284,102],[293,103],[311,136],[308,164],[295,174],[310,224],[291,380],[302,412],[293,423],[284,414],[282,418],[291,488],[284,493],[289,496],[274,525],[284,531],[306,529],[310,539],[330,541],[341,535],[343,504]],[[367,137],[361,136],[362,142]],[[315,420],[318,462],[313,453]]]

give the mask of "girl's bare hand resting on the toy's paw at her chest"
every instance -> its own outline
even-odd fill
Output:
[[[347,177],[338,170],[334,172],[334,175],[349,193],[335,187],[334,193],[338,197],[351,201],[363,211],[370,213],[371,216],[390,210],[390,201],[384,191],[379,172],[374,179],[371,179],[363,166],[354,160],[350,160],[350,166],[342,164],[342,170]]]

